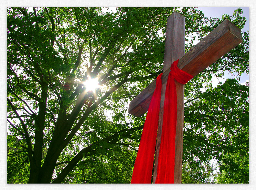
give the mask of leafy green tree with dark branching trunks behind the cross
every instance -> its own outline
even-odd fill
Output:
[[[167,17],[186,17],[186,51],[192,33],[200,40],[229,17],[187,7],[28,10],[7,8],[8,183],[130,183],[145,116],[128,115],[127,105],[162,72]],[[246,21],[241,9],[229,19],[240,28]],[[249,32],[243,39],[186,85],[184,172],[195,182],[209,175],[186,168],[209,168],[212,158],[224,171],[218,180],[229,178],[230,161],[249,163],[249,87],[211,85],[225,70],[249,73]],[[89,78],[103,88],[88,91]],[[232,179],[248,183],[240,167]]]

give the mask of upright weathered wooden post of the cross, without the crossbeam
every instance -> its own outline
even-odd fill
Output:
[[[172,13],[167,19],[165,56],[163,73],[170,69],[171,64],[182,57],[185,53],[185,17],[177,12]],[[158,154],[161,143],[163,108],[165,100],[166,82],[162,84],[161,103],[159,112],[159,122],[157,131],[157,141],[155,150],[155,166],[153,183],[157,175]],[[184,106],[184,85],[177,85],[177,127],[176,127],[176,154],[175,154],[175,174],[174,183],[181,183],[182,171],[182,143],[183,143],[183,106]],[[177,156],[176,156],[177,155]],[[177,158],[176,158],[177,157]],[[176,163],[177,160],[177,163]]]

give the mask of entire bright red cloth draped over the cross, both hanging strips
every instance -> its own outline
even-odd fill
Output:
[[[178,61],[179,60],[173,62],[171,65],[171,72],[168,75],[166,83],[162,137],[155,183],[174,183],[177,122],[177,94],[175,80],[179,83],[186,84],[193,78],[192,75],[177,67]],[[161,100],[162,74],[163,73],[156,79],[156,88],[150,101],[144,123],[131,183],[151,183]]]

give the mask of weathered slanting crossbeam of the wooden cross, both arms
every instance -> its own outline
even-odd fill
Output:
[[[240,29],[226,19],[179,59],[178,68],[195,76],[241,42]],[[163,73],[162,83],[167,81],[168,74],[168,70]],[[155,83],[153,81],[130,102],[128,113],[140,117],[147,112]]]

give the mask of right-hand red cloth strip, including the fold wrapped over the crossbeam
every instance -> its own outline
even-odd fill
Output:
[[[192,75],[177,67],[179,60],[171,65],[164,102],[164,116],[155,183],[174,183],[175,137],[177,123],[177,94],[175,81],[186,84]]]

